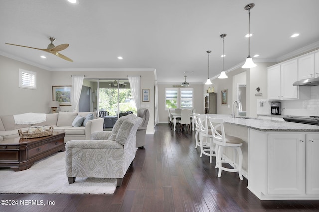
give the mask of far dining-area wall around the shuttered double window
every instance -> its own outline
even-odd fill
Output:
[[[174,85],[176,85],[175,83]],[[165,110],[165,88],[172,88],[173,84],[158,84],[159,90],[159,122],[168,122],[168,111]],[[196,113],[204,113],[203,85],[190,84],[187,88],[194,88],[194,108]]]

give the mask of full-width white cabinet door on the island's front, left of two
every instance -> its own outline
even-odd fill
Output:
[[[268,136],[268,193],[305,194],[305,134]]]

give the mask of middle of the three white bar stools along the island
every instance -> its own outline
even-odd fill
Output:
[[[207,115],[199,115],[199,146],[200,146],[200,157],[204,154],[209,156],[209,162],[212,162],[212,157],[216,156],[215,152],[215,144],[213,142],[213,134],[210,126],[207,122]],[[205,141],[203,141],[205,139]],[[204,149],[205,148],[205,149]]]

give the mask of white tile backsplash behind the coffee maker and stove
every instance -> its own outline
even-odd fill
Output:
[[[257,114],[269,115],[271,102],[268,99],[257,99]],[[280,102],[282,115],[319,116],[319,86],[310,87],[310,99]]]

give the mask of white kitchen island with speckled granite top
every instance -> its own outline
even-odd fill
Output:
[[[318,125],[209,116],[224,119],[225,133],[243,139],[243,175],[259,199],[319,200]],[[224,154],[234,161],[233,152]]]

